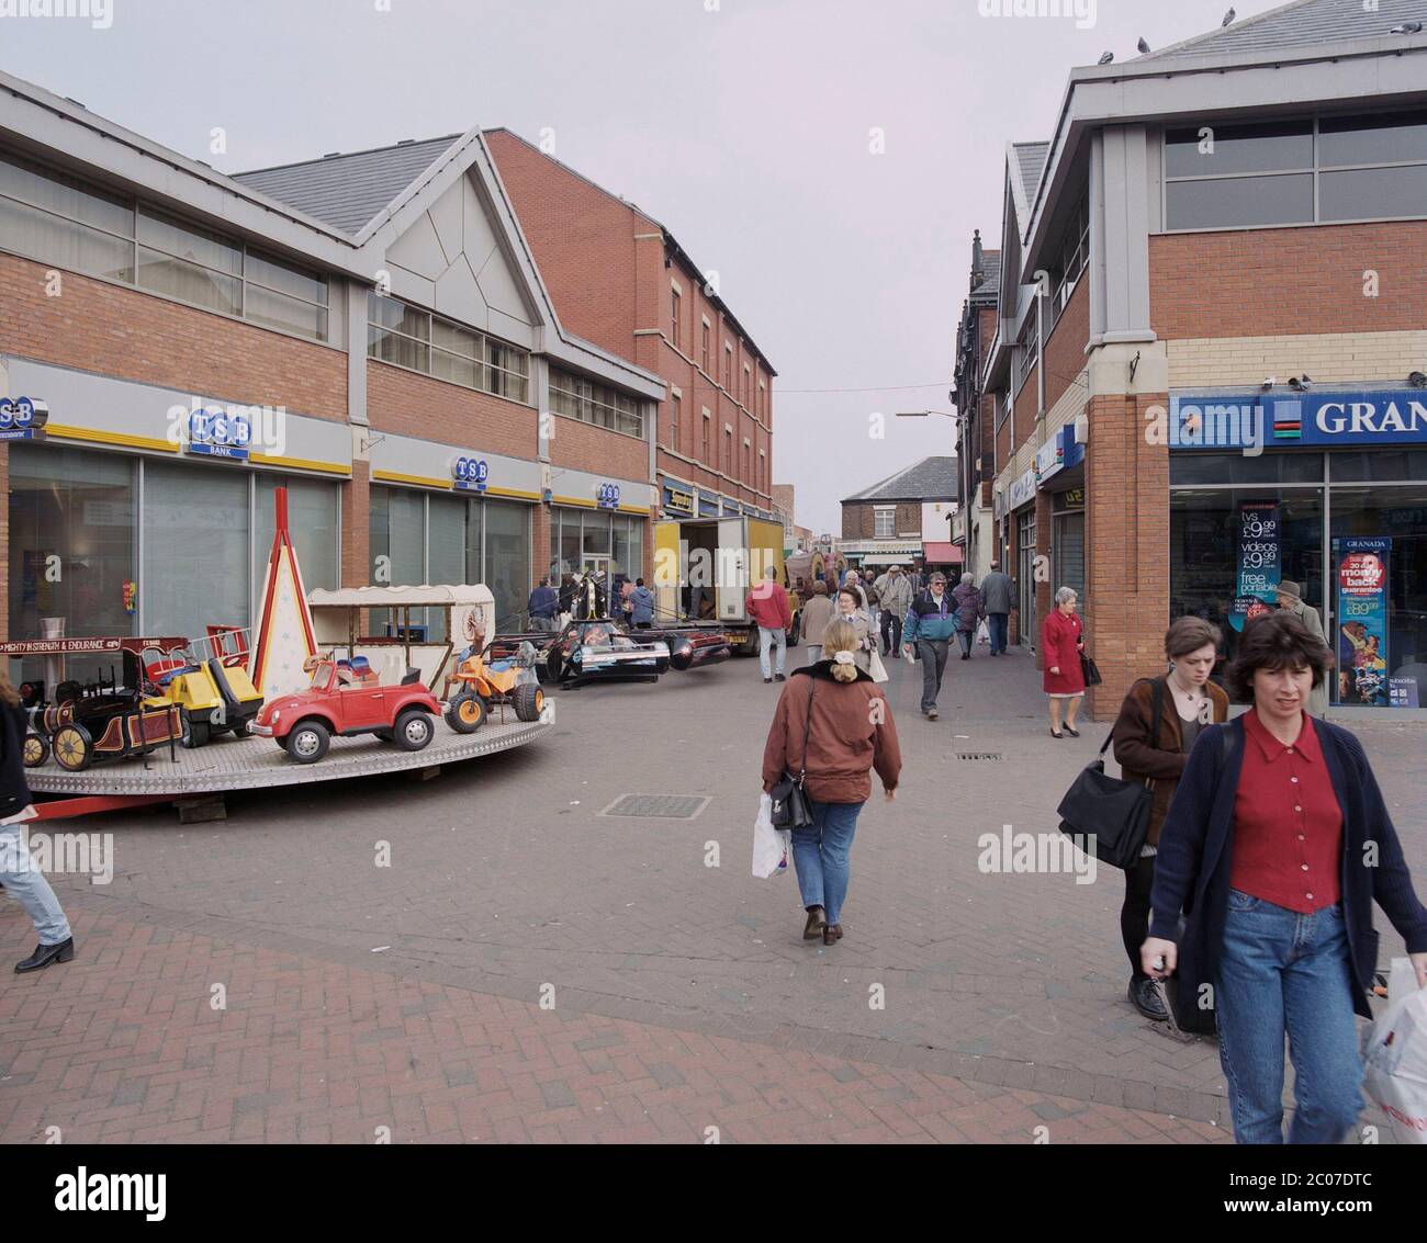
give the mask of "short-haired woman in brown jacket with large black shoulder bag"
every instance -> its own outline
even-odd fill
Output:
[[[1174,787],[1200,728],[1229,717],[1229,696],[1209,680],[1222,640],[1219,627],[1202,617],[1176,619],[1164,634],[1169,674],[1142,679],[1130,687],[1110,734],[1124,780],[1149,783],[1153,791],[1144,850],[1139,864],[1124,872],[1120,937],[1130,958],[1130,986],[1126,989],[1130,1004],[1157,1022],[1167,1018],[1164,1005],[1154,982],[1140,968],[1140,945],[1149,928],[1150,889],[1154,887],[1154,855]],[[1159,733],[1152,737],[1156,697],[1160,720]]]

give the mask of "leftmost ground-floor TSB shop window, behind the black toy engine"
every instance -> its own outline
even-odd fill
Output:
[[[44,619],[87,639],[136,633],[137,462],[114,453],[10,446],[10,637],[43,637]],[[67,659],[67,676],[94,679],[108,661]],[[44,677],[41,659],[11,677]]]

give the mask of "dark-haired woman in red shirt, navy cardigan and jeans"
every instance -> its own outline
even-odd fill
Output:
[[[1160,832],[1140,964],[1177,968],[1182,1015],[1217,1019],[1239,1143],[1283,1143],[1284,1036],[1289,1142],[1340,1143],[1357,1122],[1374,901],[1427,988],[1427,908],[1363,744],[1307,711],[1331,659],[1289,613],[1244,626],[1226,681],[1253,708],[1200,733]]]

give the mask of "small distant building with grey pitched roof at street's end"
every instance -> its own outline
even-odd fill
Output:
[[[878,573],[890,564],[959,569],[956,489],[956,458],[923,458],[853,493],[842,502],[839,552],[849,566]]]

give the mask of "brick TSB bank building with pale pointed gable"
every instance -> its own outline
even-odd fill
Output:
[[[0,395],[49,406],[0,408],[0,634],[251,624],[280,483],[308,587],[648,573],[665,385],[562,322],[479,130],[225,177],[0,84]]]

